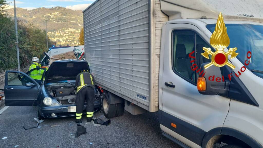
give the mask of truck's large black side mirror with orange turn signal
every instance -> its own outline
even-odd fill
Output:
[[[203,63],[201,65],[200,73],[203,71],[202,75],[198,77],[197,88],[199,93],[203,95],[218,95],[220,90],[224,90],[226,82],[220,67],[212,65],[211,67],[205,69],[205,65],[208,63]],[[204,74],[205,73],[205,74]]]

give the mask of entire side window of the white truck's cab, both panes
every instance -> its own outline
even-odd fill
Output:
[[[194,31],[175,30],[172,33],[173,40],[173,70],[186,81],[196,84],[200,73],[200,67],[205,62],[211,62],[201,55],[203,47],[210,46]]]

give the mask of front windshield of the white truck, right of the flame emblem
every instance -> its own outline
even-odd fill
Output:
[[[243,64],[247,59],[246,54],[250,51],[250,63],[246,68],[255,75],[263,78],[263,26],[254,24],[225,24],[230,45],[227,48],[237,47],[236,58]],[[208,24],[206,28],[214,32],[215,24]],[[248,62],[247,62],[248,63]]]

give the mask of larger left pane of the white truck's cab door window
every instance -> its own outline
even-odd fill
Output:
[[[173,31],[173,70],[188,81],[195,83],[191,70],[189,54],[195,50],[195,32],[189,30]],[[195,53],[193,54],[195,56]],[[194,62],[193,62],[194,63]]]

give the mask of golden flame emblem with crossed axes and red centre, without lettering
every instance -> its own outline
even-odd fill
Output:
[[[224,49],[230,44],[230,39],[227,35],[224,17],[221,12],[218,15],[215,31],[210,38],[210,44],[212,47],[216,48],[216,51],[212,52],[210,48],[203,47],[205,52],[202,53],[202,56],[207,59],[209,59],[209,55],[212,56],[211,62],[204,66],[205,69],[212,65],[217,67],[227,65],[232,69],[235,69],[235,66],[227,61],[227,56],[231,55],[231,59],[236,57],[238,55],[238,53],[236,53],[237,48],[229,48],[227,52],[224,52]]]

